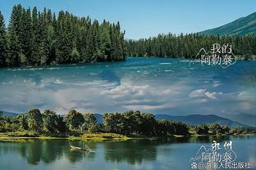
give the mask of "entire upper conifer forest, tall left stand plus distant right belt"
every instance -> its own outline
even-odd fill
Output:
[[[78,17],[68,11],[13,7],[7,28],[0,11],[0,67],[59,65],[125,60],[126,56],[194,58],[201,48],[229,43],[235,56],[256,59],[256,37],[251,34],[216,36],[158,34],[125,40],[121,25]]]

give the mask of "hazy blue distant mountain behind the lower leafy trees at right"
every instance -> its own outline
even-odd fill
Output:
[[[205,124],[218,123],[218,124],[224,124],[230,128],[248,127],[245,124],[237,123],[230,119],[225,119],[213,114],[209,114],[209,115],[190,114],[186,116],[171,116],[167,114],[156,114],[155,116],[156,116],[156,119],[175,120],[175,121],[194,124],[194,125],[198,125],[200,123],[205,123]]]

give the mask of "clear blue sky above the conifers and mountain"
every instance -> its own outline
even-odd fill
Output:
[[[47,7],[55,12],[71,11],[77,16],[90,16],[121,22],[126,38],[148,38],[160,33],[192,33],[211,29],[256,11],[255,0],[0,0],[0,11],[9,20],[13,5]]]

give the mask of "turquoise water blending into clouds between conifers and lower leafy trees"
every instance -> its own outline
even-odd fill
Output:
[[[256,62],[219,65],[127,58],[121,62],[0,69],[0,110],[103,114],[256,114]]]

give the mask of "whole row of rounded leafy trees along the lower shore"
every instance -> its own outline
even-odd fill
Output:
[[[117,133],[126,136],[188,136],[247,134],[255,132],[254,128],[233,128],[213,123],[198,126],[185,123],[156,120],[153,114],[139,111],[103,114],[103,123],[97,123],[94,114],[81,114],[71,110],[64,116],[52,110],[42,114],[38,109],[16,117],[0,117],[0,132],[20,132],[20,136],[79,136],[83,133]]]

